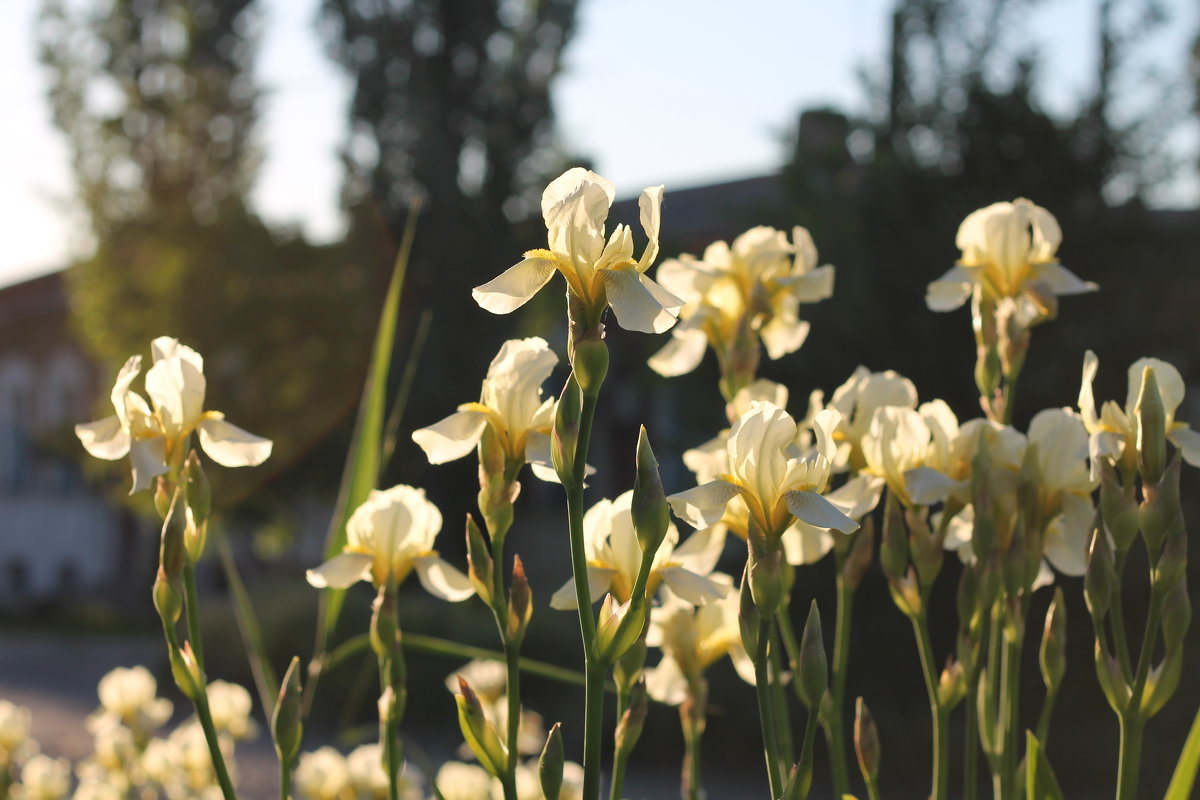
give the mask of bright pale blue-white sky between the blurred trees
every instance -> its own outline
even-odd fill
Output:
[[[342,230],[337,149],[349,83],[325,56],[318,0],[264,0],[257,71],[265,156],[253,201],[317,241]],[[34,22],[40,0],[0,4],[0,285],[61,269],[86,247],[67,151],[49,119]],[[1044,0],[1025,22],[1044,44],[1044,103],[1067,110],[1096,62],[1096,0]],[[1198,4],[1169,0],[1153,49],[1186,64]],[[554,89],[560,134],[620,194],[778,168],[803,108],[862,110],[865,66],[886,58],[893,0],[583,0]],[[1180,148],[1200,134],[1182,131]],[[1194,204],[1195,181],[1164,194]]]

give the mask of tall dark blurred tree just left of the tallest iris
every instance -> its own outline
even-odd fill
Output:
[[[415,423],[478,392],[497,330],[512,325],[475,308],[470,288],[545,246],[539,198],[563,163],[550,90],[576,6],[322,0],[329,52],[353,82],[346,201],[376,206],[398,235],[421,199],[407,306],[434,312],[426,361],[460,367],[414,397]],[[526,219],[536,224],[518,242]],[[467,344],[475,330],[486,345]]]

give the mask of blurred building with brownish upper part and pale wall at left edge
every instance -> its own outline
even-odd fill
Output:
[[[100,375],[74,342],[62,273],[0,289],[0,610],[88,595],[119,573],[119,512],[80,471],[72,427]]]

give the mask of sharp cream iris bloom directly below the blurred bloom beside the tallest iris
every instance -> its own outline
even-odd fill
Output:
[[[858,523],[822,495],[829,483],[836,446],[833,431],[841,415],[833,409],[812,421],[816,446],[800,447],[805,434],[787,411],[755,402],[734,423],[726,443],[730,473],[694,489],[672,494],[672,510],[688,524],[707,528],[720,522],[725,507],[742,497],[752,519],[768,537],[779,537],[800,519],[817,528],[851,533]]]

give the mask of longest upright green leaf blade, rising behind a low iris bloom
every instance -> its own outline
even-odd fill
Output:
[[[337,493],[334,519],[325,540],[326,559],[342,552],[346,546],[346,523],[379,481],[384,414],[388,401],[388,372],[391,367],[396,320],[400,315],[400,295],[404,288],[404,276],[408,273],[408,258],[413,249],[418,211],[416,205],[409,209],[404,236],[400,245],[400,252],[396,253],[396,263],[391,272],[391,282],[388,284],[388,294],[383,301],[383,309],[379,312],[379,327],[376,330],[371,362],[362,386],[362,399],[359,403],[359,415],[354,423],[354,435],[346,457],[346,469],[342,471],[342,485]],[[324,654],[324,644],[337,627],[344,601],[344,589],[322,590],[319,630],[317,632],[318,646],[314,658],[319,658]]]

